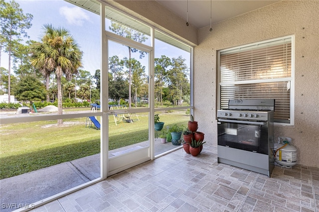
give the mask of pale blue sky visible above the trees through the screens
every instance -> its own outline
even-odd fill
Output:
[[[8,0],[5,1],[8,2]],[[99,15],[64,0],[15,1],[20,5],[24,14],[30,13],[33,15],[31,21],[32,26],[26,30],[28,36],[30,36],[29,39],[40,41],[40,37],[44,32],[44,24],[52,24],[54,27],[68,29],[83,52],[83,67],[81,69],[89,71],[91,75],[94,75],[95,70],[100,69],[101,50]],[[187,60],[186,64],[189,67],[189,53],[177,48],[171,48],[162,42],[157,42],[157,44],[159,45],[156,47],[155,57],[165,55],[172,58],[181,55]],[[138,56],[136,58],[138,58]],[[145,63],[147,59],[145,58],[143,61],[141,61],[142,64]],[[8,69],[8,57],[3,52],[1,53],[0,66]],[[11,73],[13,73],[12,69]]]

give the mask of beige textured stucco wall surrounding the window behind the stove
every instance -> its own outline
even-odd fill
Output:
[[[280,1],[198,31],[194,48],[195,119],[208,145],[217,146],[216,52],[295,35],[295,125],[275,126],[288,136],[298,164],[319,167],[319,1]],[[208,89],[209,88],[209,89]]]

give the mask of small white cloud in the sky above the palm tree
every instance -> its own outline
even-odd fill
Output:
[[[89,16],[77,6],[62,6],[59,11],[66,18],[67,22],[72,25],[82,26],[85,20],[89,20]]]

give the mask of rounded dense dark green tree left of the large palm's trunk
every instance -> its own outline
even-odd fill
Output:
[[[31,75],[23,77],[15,86],[15,96],[19,101],[45,100],[46,91],[44,85]]]

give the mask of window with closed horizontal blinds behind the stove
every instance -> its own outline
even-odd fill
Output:
[[[219,51],[219,106],[230,99],[275,99],[275,122],[293,124],[292,37]]]

